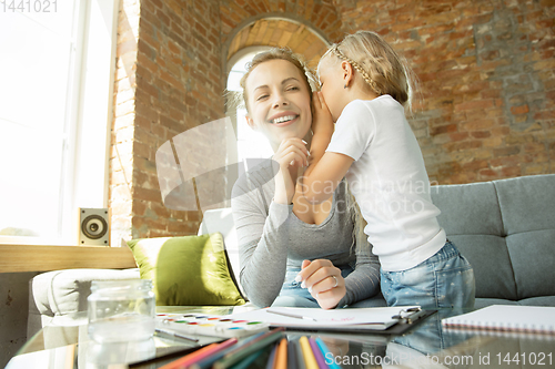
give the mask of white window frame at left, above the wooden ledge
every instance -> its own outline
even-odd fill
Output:
[[[70,58],[72,72],[65,100],[61,163],[63,197],[60,197],[58,213],[60,237],[2,235],[0,246],[75,246],[78,207],[108,207],[119,1],[78,0],[74,7],[71,41],[74,50]]]

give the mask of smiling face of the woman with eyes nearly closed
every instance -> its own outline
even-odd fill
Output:
[[[305,139],[312,124],[311,91],[304,75],[286,60],[256,65],[245,83],[246,122],[261,131],[276,151],[284,139]]]

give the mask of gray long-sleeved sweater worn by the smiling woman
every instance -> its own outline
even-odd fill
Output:
[[[293,205],[274,203],[278,163],[265,160],[241,175],[232,193],[233,219],[240,250],[240,280],[246,297],[256,306],[271,306],[280,294],[287,267],[301,267],[304,259],[329,259],[334,266],[351,265],[346,294],[337,305],[351,305],[380,291],[380,263],[366,237],[354,244],[352,208],[346,183],[333,194],[329,216],[319,225],[306,224],[293,213]]]

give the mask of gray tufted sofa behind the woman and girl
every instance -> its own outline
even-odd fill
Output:
[[[476,307],[555,306],[555,174],[432,187],[440,224],[468,258]],[[239,253],[230,209],[206,212],[199,234],[222,232],[232,273]],[[28,337],[47,324],[87,318],[92,279],[139,277],[133,270],[69,269],[30,280]]]

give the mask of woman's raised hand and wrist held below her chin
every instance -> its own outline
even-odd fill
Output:
[[[289,205],[293,202],[299,168],[309,165],[307,157],[309,150],[303,140],[292,137],[282,141],[272,157],[280,165],[275,176],[275,203]]]

